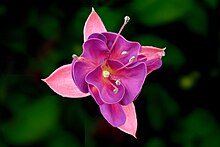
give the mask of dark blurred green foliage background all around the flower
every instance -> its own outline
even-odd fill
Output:
[[[134,102],[137,139],[110,126],[92,99],[41,81],[80,55],[94,7],[108,31],[166,47]],[[218,0],[0,1],[0,147],[219,147]]]

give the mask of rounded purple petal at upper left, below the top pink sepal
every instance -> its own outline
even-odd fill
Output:
[[[109,54],[106,43],[100,39],[89,39],[83,44],[83,49],[82,57],[95,65],[100,65]]]

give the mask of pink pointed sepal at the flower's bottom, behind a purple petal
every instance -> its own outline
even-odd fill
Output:
[[[118,127],[120,130],[128,133],[136,138],[137,131],[137,117],[134,103],[130,103],[127,106],[122,106],[122,109],[125,112],[126,121],[125,123]]]

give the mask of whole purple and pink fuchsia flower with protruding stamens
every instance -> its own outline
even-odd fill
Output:
[[[83,53],[73,55],[72,64],[61,66],[43,81],[63,97],[91,95],[112,126],[135,137],[133,101],[146,76],[161,66],[164,49],[126,40],[120,33],[128,21],[126,16],[119,33],[107,32],[92,9],[84,26]]]

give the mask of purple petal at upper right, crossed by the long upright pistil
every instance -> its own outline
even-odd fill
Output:
[[[107,44],[109,49],[112,47],[117,34],[115,33],[102,33],[107,38]],[[110,59],[118,60],[123,64],[127,64],[131,58],[133,62],[137,61],[137,55],[141,49],[141,45],[138,42],[127,41],[124,37],[119,35],[114,47],[111,51]]]

